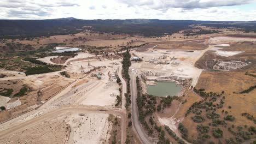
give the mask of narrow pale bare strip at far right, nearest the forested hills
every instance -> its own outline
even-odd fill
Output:
[[[234,38],[234,37],[214,37],[209,39],[209,44],[225,44],[243,41],[256,41],[256,38]]]

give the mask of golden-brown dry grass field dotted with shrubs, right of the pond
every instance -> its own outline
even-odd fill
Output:
[[[253,121],[247,119],[246,117],[243,117],[242,113],[249,113],[252,116],[256,116],[256,91],[253,90],[249,93],[237,94],[248,89],[251,86],[256,85],[255,77],[245,75],[245,73],[246,71],[244,70],[222,72],[203,71],[196,85],[197,89],[204,88],[206,92],[222,93],[224,91],[223,95],[225,97],[225,103],[223,104],[222,109],[217,109],[216,113],[220,114],[220,119],[224,119],[224,117],[227,116],[227,114],[224,114],[222,112],[223,110],[225,112],[227,111],[228,115],[232,115],[233,117],[235,117],[235,121],[233,122],[225,121],[227,123],[226,127],[221,125],[215,127],[223,130],[223,136],[220,139],[214,139],[214,137],[211,136],[210,139],[216,143],[218,143],[219,140],[224,142],[225,139],[235,137],[228,130],[228,128],[231,128],[232,125],[234,125],[234,131],[237,131],[237,127],[243,127],[243,130],[247,131],[248,127],[255,126]],[[178,112],[176,117],[182,116],[179,113],[184,113],[185,110],[183,109],[187,108],[188,110],[188,107],[190,107],[190,105],[191,103],[185,103],[181,107],[181,112]],[[201,115],[206,115],[206,112],[202,112]],[[205,121],[203,121],[202,123],[196,123],[193,122],[191,116],[193,115],[190,113],[187,117],[184,118],[184,121],[182,123],[185,125],[186,128],[188,128],[189,139],[193,140],[196,139],[197,135],[199,134],[196,130],[197,125],[208,125],[208,123],[211,123],[212,121],[211,119],[205,117]],[[210,128],[210,131],[208,133],[210,135],[212,128]],[[255,137],[255,135],[252,137]]]

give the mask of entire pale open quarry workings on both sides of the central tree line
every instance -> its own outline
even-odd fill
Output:
[[[229,71],[252,64],[250,61],[236,58],[246,51],[231,51],[227,47],[255,39],[213,37],[201,41],[196,41],[205,45],[201,49],[199,47],[193,49],[191,46],[187,50],[184,47],[182,49],[174,47],[173,50],[173,48],[169,49],[168,45],[163,49],[163,47],[158,48],[159,44],[153,43],[150,44],[152,47],[146,50],[139,48],[130,50],[131,57],[142,59],[131,64],[131,83],[135,83],[135,77],[138,76],[143,81],[143,93],[146,93],[147,86],[155,85],[155,82],[174,82],[181,86],[176,96],[185,97],[191,88],[197,85],[202,71],[206,69]],[[179,47],[182,46],[183,43],[179,44]],[[207,55],[213,58],[203,59]],[[52,59],[57,57],[50,56],[38,60],[56,64]],[[0,143],[110,143],[112,128],[117,127],[109,120],[110,116],[121,119],[118,123],[120,135],[117,139],[120,143],[125,143],[127,115],[124,94],[127,87],[121,74],[122,61],[120,56],[109,58],[79,52],[77,56],[62,63],[66,65],[65,69],[53,73],[26,76],[24,73],[1,70],[0,73],[14,76],[1,78],[0,82],[20,81],[20,86],[26,85],[31,91],[30,95],[22,98],[0,95],[1,106],[16,113],[16,115],[9,115],[4,111],[0,113],[2,117]],[[207,67],[208,64],[209,68],[197,67],[199,61],[203,66]],[[61,75],[63,71],[66,71],[69,77]],[[117,83],[118,77],[121,85]],[[135,107],[133,87],[131,86],[131,97],[132,107]],[[121,95],[122,102],[121,106],[116,107],[118,95]],[[15,109],[18,106],[19,109]],[[176,118],[179,106],[176,105],[177,109],[172,116],[161,116],[157,119],[160,124],[167,125],[182,137],[177,130],[178,123],[184,119],[184,117]],[[132,108],[131,112],[132,115],[137,115],[136,109]],[[143,132],[138,119],[133,119],[133,123],[135,124],[132,127],[135,128],[135,133],[142,143],[154,143],[151,139],[143,138],[147,134]]]

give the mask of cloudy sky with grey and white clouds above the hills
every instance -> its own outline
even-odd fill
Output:
[[[0,19],[256,20],[256,0],[1,0]]]

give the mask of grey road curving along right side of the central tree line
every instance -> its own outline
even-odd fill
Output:
[[[142,128],[141,123],[138,119],[138,107],[136,103],[137,99],[137,86],[136,86],[136,75],[130,73],[131,76],[131,107],[132,107],[132,125],[133,129],[135,129],[135,133],[137,133],[139,140],[144,144],[152,143],[149,140],[149,137],[147,136],[146,132]]]

